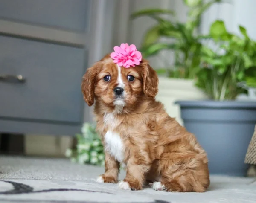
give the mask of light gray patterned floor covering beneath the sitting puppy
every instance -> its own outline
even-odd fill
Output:
[[[255,203],[254,178],[211,176],[205,193],[124,191],[116,184],[96,183],[102,167],[79,165],[67,159],[0,156],[0,202],[147,202]],[[121,171],[119,179],[125,176]]]

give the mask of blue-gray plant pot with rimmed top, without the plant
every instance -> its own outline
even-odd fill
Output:
[[[185,128],[208,154],[210,174],[245,176],[256,102],[177,101]]]

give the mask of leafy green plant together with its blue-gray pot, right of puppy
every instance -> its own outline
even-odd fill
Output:
[[[256,87],[256,42],[244,27],[239,29],[242,37],[227,32],[223,21],[212,23],[215,46],[202,46],[195,75],[195,85],[209,100],[177,101],[185,127],[208,154],[212,174],[244,176],[248,168],[244,158],[256,123],[256,101],[237,98]]]

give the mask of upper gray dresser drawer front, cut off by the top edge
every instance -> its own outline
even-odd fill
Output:
[[[84,32],[91,0],[0,0],[0,17]]]

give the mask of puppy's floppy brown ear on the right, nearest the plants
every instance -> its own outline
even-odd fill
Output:
[[[158,93],[157,72],[149,65],[148,61],[143,59],[141,62],[143,68],[143,91],[148,97],[155,97]]]

